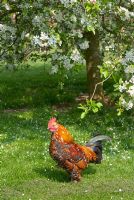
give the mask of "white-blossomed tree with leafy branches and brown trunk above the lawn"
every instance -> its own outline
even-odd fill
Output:
[[[122,107],[133,107],[132,0],[10,0],[0,4],[0,56],[6,66],[30,57],[49,59],[52,74],[61,69],[66,74],[83,64],[91,100],[104,98],[102,76],[116,83],[119,113]],[[126,79],[124,95],[120,87]],[[88,102],[87,111],[90,106]]]

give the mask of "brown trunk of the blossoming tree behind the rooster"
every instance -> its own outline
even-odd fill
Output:
[[[95,85],[101,82],[98,65],[101,65],[99,33],[86,32],[85,37],[89,41],[89,48],[85,51],[87,82],[89,98],[92,97]],[[96,88],[93,99],[103,99],[103,86],[99,84]]]

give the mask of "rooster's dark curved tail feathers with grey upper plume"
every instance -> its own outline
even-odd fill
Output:
[[[90,147],[97,155],[97,159],[93,161],[95,164],[100,164],[102,160],[102,141],[110,141],[111,138],[106,135],[98,135],[93,137],[86,144],[87,147]]]

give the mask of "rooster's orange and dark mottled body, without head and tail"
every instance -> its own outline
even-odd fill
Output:
[[[62,125],[52,133],[50,155],[58,165],[71,174],[72,180],[80,180],[81,171],[90,161],[96,160],[96,154],[90,147],[76,144],[71,134]]]

